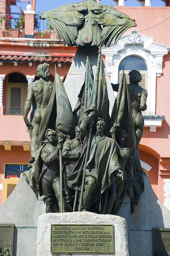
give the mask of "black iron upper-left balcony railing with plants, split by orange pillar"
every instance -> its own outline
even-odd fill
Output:
[[[24,13],[0,13],[0,37],[24,38],[25,19]],[[34,38],[57,39],[57,35],[47,20],[41,20],[39,15],[34,15]]]

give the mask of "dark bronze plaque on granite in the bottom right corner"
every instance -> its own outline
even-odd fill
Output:
[[[170,228],[152,228],[153,256],[170,256]]]

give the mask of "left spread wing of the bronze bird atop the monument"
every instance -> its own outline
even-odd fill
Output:
[[[75,39],[78,37],[77,27],[84,21],[84,14],[87,9],[86,4],[65,4],[54,10],[49,10],[40,14],[41,19],[46,19],[57,33],[58,39],[63,40],[64,45],[76,45]]]

